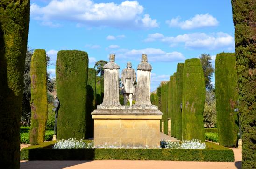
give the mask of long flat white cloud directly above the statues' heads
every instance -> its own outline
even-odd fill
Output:
[[[148,54],[148,60],[152,62],[184,61],[185,57],[180,52],[165,52],[156,48],[132,49],[122,52],[115,51],[117,58],[140,60],[142,54]],[[139,57],[138,57],[139,56]]]

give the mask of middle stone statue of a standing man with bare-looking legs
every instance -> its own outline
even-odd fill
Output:
[[[129,95],[130,106],[133,102],[132,95],[135,95],[134,83],[136,81],[136,72],[132,69],[132,63],[127,63],[127,68],[123,69],[121,75],[121,83],[123,85],[122,95],[124,99],[124,105],[127,103],[127,95]]]

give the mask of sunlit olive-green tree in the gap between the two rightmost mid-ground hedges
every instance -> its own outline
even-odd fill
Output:
[[[216,99],[215,99],[215,91],[206,90],[206,101],[204,108],[204,124],[208,128],[213,125],[216,127]]]

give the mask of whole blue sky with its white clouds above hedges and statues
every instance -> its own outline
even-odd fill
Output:
[[[82,50],[95,61],[116,55],[121,70],[142,54],[152,65],[151,89],[169,80],[177,63],[206,53],[235,52],[230,0],[31,0],[28,46]],[[55,77],[55,66],[48,71]],[[120,70],[120,72],[121,72]],[[213,78],[214,83],[214,78]]]

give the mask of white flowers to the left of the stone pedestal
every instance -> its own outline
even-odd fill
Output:
[[[76,139],[67,139],[67,140],[60,140],[54,144],[52,147],[53,149],[91,149],[93,147],[93,141],[90,143],[83,142],[83,139],[76,140]]]

